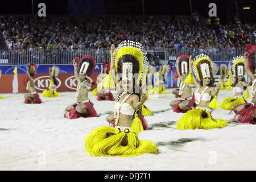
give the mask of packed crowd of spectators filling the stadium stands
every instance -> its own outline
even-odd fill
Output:
[[[221,24],[220,19],[199,15],[0,15],[0,39],[7,49],[81,49],[108,48],[122,40],[141,42],[147,50],[175,48],[243,47],[255,44],[255,23],[234,19]]]

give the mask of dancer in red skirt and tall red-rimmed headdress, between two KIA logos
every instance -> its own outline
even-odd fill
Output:
[[[79,65],[77,66],[77,62]],[[93,103],[88,99],[88,91],[92,89],[92,84],[87,82],[87,76],[92,75],[96,66],[95,60],[90,55],[85,55],[79,60],[78,57],[73,59],[74,73],[78,82],[76,89],[77,103],[69,105],[64,111],[64,117],[76,119],[79,117],[98,117],[94,110]],[[77,69],[79,73],[77,73]]]

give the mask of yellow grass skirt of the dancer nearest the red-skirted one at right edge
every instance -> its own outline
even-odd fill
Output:
[[[224,100],[222,100],[221,102],[221,109],[224,109],[224,110],[233,110],[234,107],[240,105],[240,104],[243,104],[243,103],[246,103],[246,98],[245,97],[227,97],[227,98],[224,98]]]

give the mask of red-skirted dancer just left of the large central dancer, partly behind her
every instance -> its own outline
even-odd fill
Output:
[[[101,73],[99,75],[100,79],[99,79],[99,84],[97,86],[97,93],[96,96],[98,101],[114,101],[115,98],[113,96],[113,94],[110,92],[110,90],[106,90],[103,89],[103,84],[104,84],[104,79],[106,78],[106,76],[108,76],[109,71],[110,71],[110,63],[108,61],[104,61],[104,73]]]

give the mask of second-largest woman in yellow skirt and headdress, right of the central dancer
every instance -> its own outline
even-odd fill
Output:
[[[220,90],[220,84],[217,84],[217,90],[214,88],[214,78],[212,61],[207,55],[201,54],[196,56],[193,61],[193,72],[197,77],[192,75],[192,56],[189,57],[189,75],[192,76],[197,88],[195,93],[197,107],[187,111],[176,124],[177,129],[214,129],[226,126],[223,119],[214,119],[212,109],[218,108],[217,95]]]

